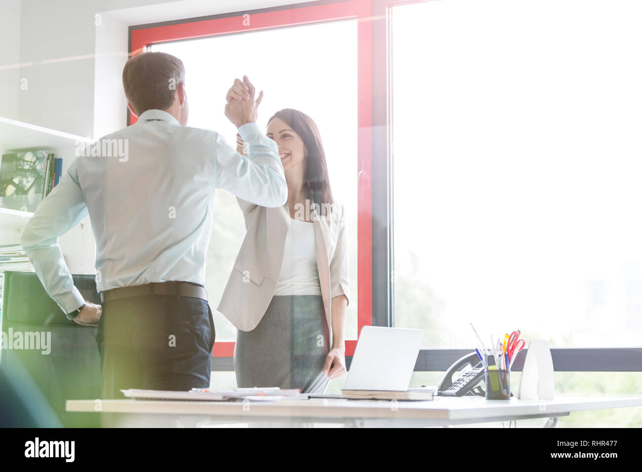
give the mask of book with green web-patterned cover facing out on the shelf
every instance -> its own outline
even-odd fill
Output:
[[[48,150],[8,153],[0,161],[0,207],[33,212],[51,189],[55,154]]]

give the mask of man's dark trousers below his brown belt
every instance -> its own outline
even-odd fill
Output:
[[[214,320],[201,299],[146,295],[103,304],[96,341],[102,398],[121,389],[209,388]]]

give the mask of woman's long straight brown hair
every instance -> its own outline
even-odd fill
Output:
[[[321,143],[321,135],[317,123],[312,118],[299,110],[285,108],[277,111],[268,120],[279,118],[288,125],[303,140],[308,150],[306,170],[304,172],[303,189],[315,204],[333,204],[330,180],[327,177],[327,164],[325,151]]]

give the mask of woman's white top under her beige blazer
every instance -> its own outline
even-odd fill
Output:
[[[274,295],[321,295],[314,223],[291,220]]]

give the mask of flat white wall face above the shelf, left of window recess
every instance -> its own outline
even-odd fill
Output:
[[[125,4],[22,0],[20,58],[31,65],[20,68],[29,87],[20,96],[21,121],[82,136],[93,134],[95,37],[100,28],[94,24],[95,15]]]

